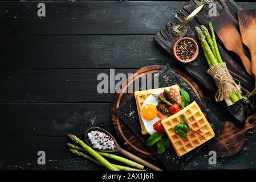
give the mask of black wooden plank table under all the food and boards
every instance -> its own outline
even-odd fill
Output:
[[[186,2],[0,2],[0,169],[104,169],[68,152],[66,134],[83,137],[90,126],[113,132],[113,94],[97,93],[97,75],[115,68],[175,65],[153,36]],[[256,3],[239,3],[256,7]],[[220,106],[208,106],[222,121]],[[255,169],[256,130],[245,147],[209,165],[202,150],[182,169]],[[37,163],[38,151],[46,164]]]

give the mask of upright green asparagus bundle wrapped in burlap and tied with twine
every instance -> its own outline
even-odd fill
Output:
[[[241,89],[240,86],[234,82],[226,68],[226,64],[221,59],[212,23],[209,23],[209,27],[212,36],[208,29],[203,25],[201,25],[201,28],[196,27],[196,32],[210,67],[208,73],[213,77],[218,87],[216,101],[219,102],[225,100],[227,106],[230,106],[242,99]]]

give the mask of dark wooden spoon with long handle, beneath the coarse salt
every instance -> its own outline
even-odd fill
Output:
[[[119,152],[120,154],[123,154],[123,155],[127,156],[128,158],[134,160],[134,161],[137,162],[137,163],[142,164],[143,166],[145,166],[145,167],[147,167],[147,168],[149,168],[149,169],[152,169],[153,171],[162,171],[162,169],[160,169],[160,168],[154,166],[153,164],[151,164],[151,163],[149,163],[149,162],[147,162],[147,161],[145,161],[145,160],[143,160],[143,159],[137,157],[136,155],[131,154],[130,152],[124,150],[123,148],[121,148],[121,147],[119,146],[119,144],[117,143],[116,139],[115,139],[110,133],[108,133],[108,131],[106,131],[106,130],[104,130],[104,129],[101,129],[101,128],[99,128],[99,127],[90,127],[90,129],[88,129],[88,130],[86,131],[86,134],[85,134],[86,143],[87,143],[89,146],[91,146],[92,148],[93,148],[93,145],[91,144],[90,139],[88,138],[88,133],[90,133],[91,131],[96,131],[96,130],[97,130],[97,131],[101,131],[101,132],[103,132],[103,133],[109,135],[109,137],[111,137],[111,138],[113,139],[113,141],[115,142],[115,145],[116,145],[115,150],[98,150],[98,149],[96,149],[97,151],[100,151],[100,152],[107,152],[107,153]]]

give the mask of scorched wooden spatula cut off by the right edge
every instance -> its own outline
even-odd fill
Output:
[[[242,41],[250,50],[251,71],[256,78],[256,9],[239,10],[238,22]]]

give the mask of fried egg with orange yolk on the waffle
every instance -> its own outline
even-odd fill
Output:
[[[163,91],[164,90],[157,90],[152,94],[160,94]],[[154,97],[152,94],[148,96],[146,100],[143,102],[143,105],[141,106],[141,111],[140,111],[141,119],[144,123],[145,129],[150,135],[156,132],[153,125],[157,121],[161,120],[157,116],[158,111],[156,109],[156,106],[159,104],[159,100],[156,97]]]

